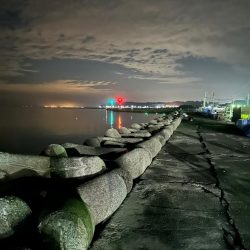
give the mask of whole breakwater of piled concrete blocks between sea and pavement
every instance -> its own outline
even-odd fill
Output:
[[[0,153],[0,245],[87,249],[180,122],[175,111],[41,156]]]

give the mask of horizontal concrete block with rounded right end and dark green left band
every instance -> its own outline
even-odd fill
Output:
[[[51,175],[59,178],[89,177],[106,169],[98,156],[51,158]]]

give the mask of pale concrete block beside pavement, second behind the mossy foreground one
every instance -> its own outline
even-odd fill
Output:
[[[115,160],[115,163],[128,171],[133,179],[141,176],[151,162],[150,153],[143,148],[135,148]]]

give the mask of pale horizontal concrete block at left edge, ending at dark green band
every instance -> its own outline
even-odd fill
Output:
[[[0,180],[33,175],[50,176],[50,157],[0,152]]]

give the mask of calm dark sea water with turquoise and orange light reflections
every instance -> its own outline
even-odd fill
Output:
[[[39,154],[51,143],[82,144],[108,128],[147,122],[155,116],[103,109],[0,108],[0,151]]]

